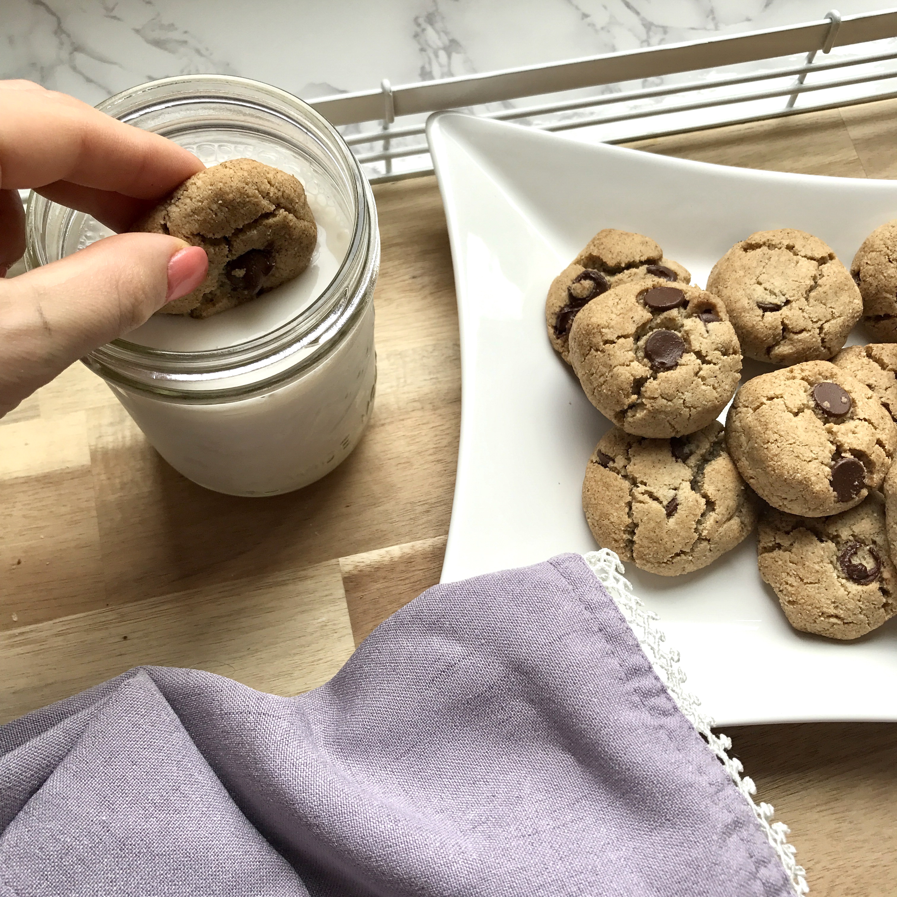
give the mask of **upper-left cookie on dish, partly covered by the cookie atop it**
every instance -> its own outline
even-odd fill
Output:
[[[594,272],[597,276],[589,276]],[[591,299],[612,286],[645,277],[661,276],[671,283],[689,283],[692,275],[649,237],[629,231],[605,229],[588,241],[574,261],[552,281],[545,300],[548,339],[570,363],[568,337],[573,318]]]

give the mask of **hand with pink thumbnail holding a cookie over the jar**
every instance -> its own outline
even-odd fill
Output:
[[[162,234],[119,233],[5,280],[25,251],[18,190],[114,231],[204,165],[160,135],[27,81],[0,81],[0,417],[91,349],[139,327],[205,278],[205,251]]]

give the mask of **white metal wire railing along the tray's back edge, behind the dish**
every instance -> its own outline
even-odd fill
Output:
[[[344,126],[349,133],[346,141],[353,147],[382,144],[376,152],[355,150],[358,160],[365,166],[372,181],[413,177],[429,173],[431,163],[427,145],[411,138],[424,134],[424,125],[418,120],[406,126],[393,126],[396,118],[420,116],[440,109],[466,109],[484,118],[518,120],[521,124],[546,131],[561,131],[571,128],[611,125],[621,122],[658,116],[675,116],[676,113],[695,113],[702,109],[723,109],[757,100],[772,100],[788,97],[781,109],[766,109],[762,114],[748,112],[714,118],[691,126],[683,126],[681,121],[664,119],[666,126],[655,127],[643,134],[632,134],[619,140],[637,139],[643,136],[677,133],[695,127],[718,126],[736,121],[751,121],[757,118],[775,118],[793,115],[808,109],[830,109],[834,106],[854,105],[868,100],[886,99],[897,96],[897,91],[868,93],[851,96],[838,102],[816,103],[796,108],[801,94],[814,91],[851,88],[860,84],[875,83],[897,78],[897,67],[885,71],[867,71],[851,78],[806,83],[808,74],[823,74],[848,66],[878,65],[897,59],[897,49],[889,52],[858,54],[815,63],[818,53],[829,53],[832,48],[851,47],[883,39],[897,37],[897,9],[878,13],[841,17],[837,11],[827,13],[824,19],[784,28],[753,31],[732,37],[711,38],[691,43],[669,44],[661,47],[642,48],[611,53],[599,57],[575,59],[549,65],[532,65],[501,72],[466,75],[440,81],[406,84],[393,87],[383,81],[380,90],[360,91],[313,100],[312,105],[334,125]],[[504,109],[477,109],[496,103],[505,104],[510,100],[525,97],[544,96],[567,91],[581,91],[588,88],[612,84],[644,81],[664,75],[684,73],[707,73],[707,70],[745,63],[764,63],[781,57],[806,54],[802,64],[785,65],[776,68],[757,67],[747,74],[732,74],[727,77],[695,77],[685,83],[675,83],[640,90],[614,91],[590,97],[575,97],[569,100],[527,104]],[[764,91],[727,92],[723,88],[738,87],[762,81],[781,78],[797,80],[781,88]],[[663,100],[678,94],[693,91],[708,91],[709,96],[686,103],[666,104],[658,102],[644,108],[629,109],[614,115],[574,116],[579,110],[600,109],[602,107],[629,103],[638,104],[648,100]],[[717,91],[713,95],[712,91]],[[566,118],[564,118],[566,116]],[[554,117],[552,119],[552,117]],[[560,117],[560,118],[559,118]],[[548,118],[549,120],[544,120]],[[379,122],[376,129],[365,129],[352,133],[367,122]],[[611,139],[610,142],[619,142]],[[409,143],[410,142],[410,143]],[[396,145],[397,144],[397,145]],[[396,171],[393,162],[410,157],[422,157],[414,167],[405,166]],[[376,168],[376,170],[374,170]]]

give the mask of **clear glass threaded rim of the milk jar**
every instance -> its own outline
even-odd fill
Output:
[[[121,91],[97,105],[97,109],[113,118],[130,122],[155,107],[175,102],[222,102],[231,106],[249,106],[276,118],[299,126],[323,155],[339,163],[341,174],[347,176],[346,198],[354,216],[352,237],[344,258],[327,286],[309,305],[265,334],[222,348],[191,352],[174,352],[137,344],[119,337],[89,353],[85,362],[104,379],[112,379],[129,388],[156,392],[151,384],[162,386],[163,392],[179,392],[178,384],[205,380],[230,379],[251,375],[273,361],[283,362],[291,355],[299,355],[296,364],[289,364],[289,375],[315,363],[322,354],[338,344],[340,335],[351,327],[357,317],[359,302],[353,296],[367,292],[361,281],[376,277],[376,255],[379,255],[377,212],[370,184],[343,136],[308,103],[273,85],[248,78],[222,74],[186,74],[161,78]],[[139,124],[137,125],[139,126]],[[322,160],[319,160],[322,161]],[[40,239],[42,223],[57,204],[32,192],[28,204],[29,249],[33,253],[30,267],[48,263],[47,247]],[[375,259],[371,255],[376,253]],[[373,262],[373,264],[369,264]],[[373,269],[371,272],[370,269]],[[361,278],[361,281],[360,281]],[[283,370],[276,379],[282,380]],[[270,379],[256,382],[251,389],[269,384]],[[211,385],[211,384],[210,384]],[[245,394],[240,387],[215,389],[219,396],[231,389]],[[190,389],[190,392],[194,392]],[[186,397],[186,396],[185,396]]]

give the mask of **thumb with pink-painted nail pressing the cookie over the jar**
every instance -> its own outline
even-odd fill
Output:
[[[139,327],[205,279],[205,250],[123,233],[0,280],[0,417],[92,349]]]

